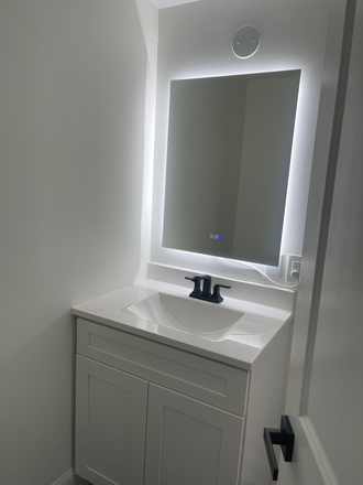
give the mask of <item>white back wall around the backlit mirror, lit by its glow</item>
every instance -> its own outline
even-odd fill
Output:
[[[208,0],[161,10],[152,235],[154,262],[237,279],[261,280],[252,271],[227,260],[162,248],[170,79],[300,68],[282,254],[301,254],[328,10],[328,0]],[[241,60],[232,54],[231,42],[234,33],[249,24],[260,31],[261,46],[255,55]]]

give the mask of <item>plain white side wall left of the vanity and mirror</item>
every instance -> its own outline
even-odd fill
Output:
[[[1,485],[73,466],[69,309],[139,269],[146,64],[133,0],[1,0]]]

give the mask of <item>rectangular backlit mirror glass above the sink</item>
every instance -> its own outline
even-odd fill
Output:
[[[299,80],[172,80],[163,247],[278,266]]]

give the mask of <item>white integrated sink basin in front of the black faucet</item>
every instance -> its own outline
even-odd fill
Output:
[[[226,306],[167,293],[155,293],[119,312],[213,341],[228,334],[244,315]]]

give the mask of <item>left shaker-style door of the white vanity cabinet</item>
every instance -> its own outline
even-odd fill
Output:
[[[76,474],[143,485],[147,382],[77,355]]]

